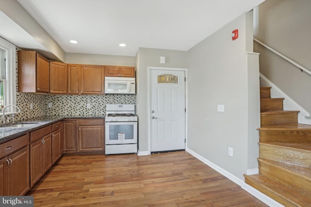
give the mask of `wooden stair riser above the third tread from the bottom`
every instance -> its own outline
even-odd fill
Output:
[[[311,131],[259,130],[261,143],[311,143]]]

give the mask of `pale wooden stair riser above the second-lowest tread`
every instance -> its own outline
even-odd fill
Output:
[[[259,144],[259,158],[306,168],[311,167],[311,151],[297,150],[294,148]]]

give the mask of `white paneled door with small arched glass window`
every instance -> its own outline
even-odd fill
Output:
[[[185,71],[150,72],[151,152],[185,149]]]

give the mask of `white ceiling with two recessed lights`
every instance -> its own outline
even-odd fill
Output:
[[[66,53],[135,56],[138,48],[187,51],[263,0],[17,1]]]

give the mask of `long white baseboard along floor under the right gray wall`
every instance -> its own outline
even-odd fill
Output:
[[[228,179],[232,180],[233,182],[235,182],[236,184],[241,186],[242,189],[249,192],[250,194],[252,194],[256,198],[258,198],[260,201],[267,204],[268,206],[270,206],[270,207],[284,207],[283,205],[279,204],[278,202],[276,202],[275,200],[273,200],[269,196],[266,196],[265,194],[261,193],[260,191],[256,190],[255,188],[251,187],[250,185],[247,185],[243,180],[241,180],[237,176],[232,175],[231,173],[227,172],[226,170],[219,167],[218,165],[215,165],[211,161],[209,161],[209,160],[205,159],[204,157],[202,157],[201,155],[195,153],[191,149],[186,148],[186,151],[189,152],[193,157],[201,160],[203,163],[207,164],[209,167],[216,170],[218,173],[224,175]]]

